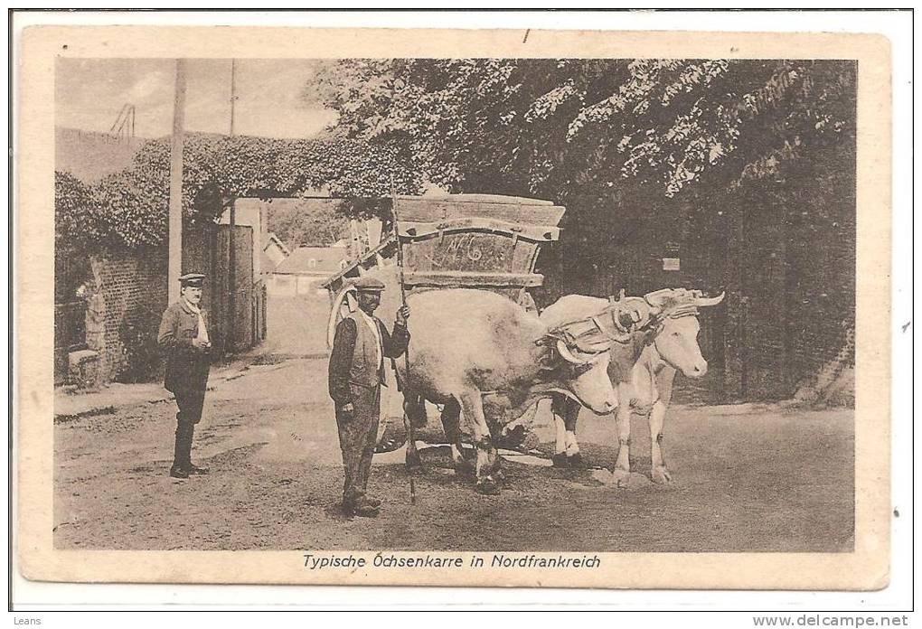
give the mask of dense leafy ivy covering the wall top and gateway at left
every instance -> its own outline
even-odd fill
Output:
[[[242,196],[414,193],[419,182],[388,146],[361,139],[278,140],[190,135],[183,148],[183,218],[208,222]],[[130,168],[92,186],[55,173],[55,231],[71,244],[137,248],[165,242],[170,204],[169,138],[142,147]]]

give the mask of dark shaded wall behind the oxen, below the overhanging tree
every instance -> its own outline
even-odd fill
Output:
[[[670,201],[632,193],[568,202],[561,242],[538,257],[536,301],[621,288],[727,291],[700,316],[708,374],[679,377],[677,401],[791,398],[830,362],[852,367],[854,154],[843,144],[812,157],[784,181],[737,190],[702,184]],[[680,258],[680,270],[664,271],[663,257]]]

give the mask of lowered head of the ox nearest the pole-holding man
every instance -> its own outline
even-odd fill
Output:
[[[538,344],[550,350],[543,356],[542,366],[550,374],[554,389],[599,415],[618,407],[618,395],[609,378],[610,340],[585,334],[575,338],[571,325],[550,330]]]

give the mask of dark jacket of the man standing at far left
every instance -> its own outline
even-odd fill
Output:
[[[208,314],[202,311],[202,318],[211,339]],[[198,336],[198,315],[183,300],[173,303],[160,320],[157,342],[166,359],[166,375],[163,386],[168,391],[204,391],[208,382],[208,366],[211,356],[208,350],[199,350],[192,344]]]

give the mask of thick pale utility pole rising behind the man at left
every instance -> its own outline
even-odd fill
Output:
[[[183,274],[183,122],[185,118],[185,59],[176,60],[173,92],[173,128],[170,143],[170,303],[179,300],[179,277]]]

